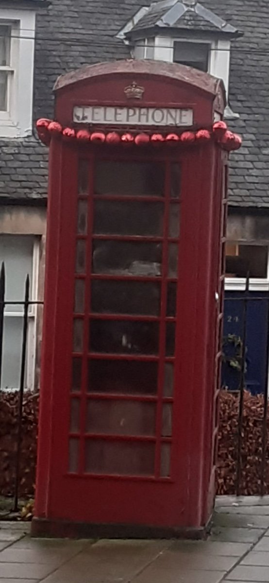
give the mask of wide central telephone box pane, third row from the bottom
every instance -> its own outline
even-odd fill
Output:
[[[90,360],[88,391],[156,395],[158,363],[136,360]]]

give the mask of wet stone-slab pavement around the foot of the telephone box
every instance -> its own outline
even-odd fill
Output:
[[[0,583],[269,583],[269,497],[219,497],[207,541],[31,539],[0,524]]]

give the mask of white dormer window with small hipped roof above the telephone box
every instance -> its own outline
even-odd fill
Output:
[[[162,0],[142,6],[117,37],[135,59],[176,62],[222,79],[228,96],[231,40],[240,35],[196,0]],[[227,107],[225,117],[238,115]]]

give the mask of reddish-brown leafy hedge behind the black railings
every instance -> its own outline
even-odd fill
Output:
[[[240,494],[260,493],[261,440],[264,401],[245,392],[242,434],[242,479]],[[0,494],[11,496],[15,484],[18,395],[0,394]],[[23,400],[20,496],[33,496],[37,453],[38,395]],[[268,427],[267,419],[267,427]],[[268,428],[269,429],[269,428]],[[268,431],[269,434],[269,431]],[[221,391],[217,493],[234,494],[238,440],[238,396]],[[267,437],[267,453],[268,453]],[[269,493],[267,455],[265,491]]]

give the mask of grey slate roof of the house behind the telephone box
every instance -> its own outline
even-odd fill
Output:
[[[229,100],[240,118],[230,125],[244,142],[242,149],[231,154],[230,204],[269,209],[269,2],[200,3],[245,33],[232,41]],[[48,6],[38,9],[34,120],[53,117],[52,87],[62,73],[85,64],[128,58],[128,47],[116,34],[141,6],[149,5],[150,0],[50,0]],[[35,136],[1,139],[2,201],[45,199],[47,149]]]

